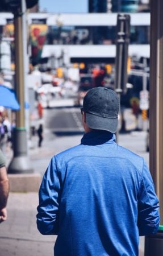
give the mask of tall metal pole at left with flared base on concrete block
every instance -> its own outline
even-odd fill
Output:
[[[24,113],[24,61],[23,61],[23,11],[22,5],[14,13],[15,27],[15,86],[20,110],[16,112],[16,127],[14,130],[14,157],[8,168],[9,174],[31,173],[30,159],[27,155],[27,133]]]

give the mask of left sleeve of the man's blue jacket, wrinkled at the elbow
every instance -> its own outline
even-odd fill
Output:
[[[58,234],[59,197],[60,180],[54,156],[43,176],[39,189],[39,205],[36,218],[37,229],[41,234]]]

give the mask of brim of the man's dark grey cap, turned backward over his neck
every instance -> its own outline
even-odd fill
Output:
[[[98,115],[86,113],[86,123],[91,129],[105,130],[111,133],[116,133],[118,130],[118,117],[105,118]]]

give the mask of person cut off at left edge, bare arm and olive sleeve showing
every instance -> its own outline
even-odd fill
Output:
[[[9,179],[5,166],[5,158],[0,150],[0,223],[7,220],[7,198],[9,196]]]

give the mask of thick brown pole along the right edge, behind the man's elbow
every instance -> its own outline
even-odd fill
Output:
[[[145,256],[163,251],[163,1],[151,0],[149,166],[160,200],[160,229],[145,237]]]

